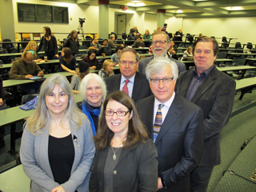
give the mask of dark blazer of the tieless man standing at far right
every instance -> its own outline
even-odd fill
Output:
[[[177,94],[186,96],[193,71],[188,70],[180,74],[175,86]],[[222,128],[230,119],[234,94],[234,79],[214,66],[191,99],[191,102],[202,109],[204,119],[204,150],[199,166],[216,166],[221,162]]]

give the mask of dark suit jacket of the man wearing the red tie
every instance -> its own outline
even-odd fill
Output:
[[[110,94],[114,90],[119,90],[121,75],[122,74],[115,74],[108,78],[105,78],[107,94]],[[134,89],[131,98],[136,103],[139,99],[146,98],[150,96],[150,94],[150,82],[146,79],[146,75],[136,72],[134,78]]]

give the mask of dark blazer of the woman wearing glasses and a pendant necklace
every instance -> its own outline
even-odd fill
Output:
[[[104,166],[109,146],[96,150],[94,166],[90,176],[90,192],[104,191]],[[122,149],[118,165],[113,172],[114,191],[137,192],[157,191],[158,189],[158,152],[151,139],[146,143],[138,142],[131,149]]]

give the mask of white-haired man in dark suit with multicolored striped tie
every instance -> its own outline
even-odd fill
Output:
[[[139,100],[137,106],[158,149],[158,191],[190,191],[190,173],[202,154],[202,110],[175,94],[178,67],[170,59],[152,60],[146,78],[154,95]]]

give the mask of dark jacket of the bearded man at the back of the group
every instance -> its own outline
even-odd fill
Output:
[[[168,58],[170,58],[171,61],[177,64],[179,73],[186,71],[186,65],[183,62],[180,62],[174,58],[171,58],[169,54],[168,54]],[[149,64],[153,59],[154,59],[154,55],[140,59],[138,62],[138,72],[145,74],[147,64]]]

